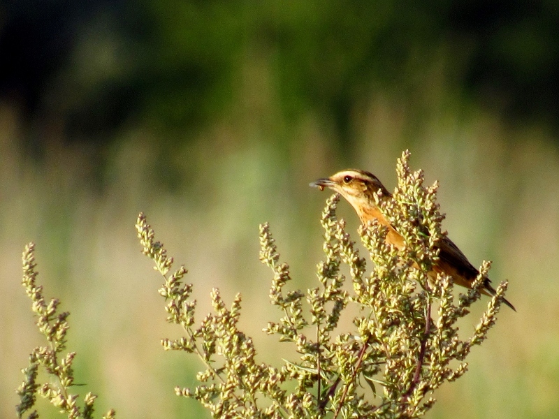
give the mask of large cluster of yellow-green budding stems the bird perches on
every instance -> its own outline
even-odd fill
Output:
[[[398,160],[397,172],[393,199],[378,204],[406,244],[402,249],[387,244],[386,227],[376,221],[362,226],[370,272],[344,221],[335,215],[337,195],[327,200],[321,217],[325,258],[317,265],[318,284],[306,292],[284,290],[292,281],[289,265],[280,262],[268,223],[260,226],[260,260],[273,271],[270,302],[282,313],[263,331],[299,354],[281,368],[257,363],[252,339],[238,330],[240,295],[227,309],[213,290],[215,312],[194,327],[192,285],[182,284],[186,269],[169,274],[173,258],[154,241],[145,216],[138,216],[143,253],[164,277],[159,293],[168,300],[168,321],[186,332],[161,343],[196,353],[206,368],[197,376],[201,385],[176,388],[177,395],[197,399],[215,418],[418,418],[433,406],[433,391],[467,371],[463,360],[493,327],[507,283],[489,300],[474,335],[462,339],[456,322],[480,299],[489,264],[481,266],[472,289],[455,299],[452,278],[433,275],[437,243],[446,234],[437,184],[423,186],[423,172],[409,168],[409,152]],[[342,265],[349,267],[351,293],[344,286]],[[340,323],[348,304],[359,309],[352,327]],[[453,360],[460,362],[457,367]]]

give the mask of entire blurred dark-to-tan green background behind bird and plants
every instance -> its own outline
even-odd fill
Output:
[[[559,417],[558,25],[546,0],[3,0],[0,417],[43,344],[20,286],[27,242],[71,311],[76,391],[100,396],[99,416],[209,417],[174,395],[201,366],[159,344],[180,330],[138,212],[189,268],[198,320],[211,288],[240,291],[242,328],[271,362],[291,351],[261,332],[279,313],[259,223],[293,286],[312,286],[328,194],[308,183],[353,167],[393,189],[406,148],[440,180],[450,237],[474,265],[494,261],[518,309],[428,417]],[[339,214],[355,232],[349,205]]]

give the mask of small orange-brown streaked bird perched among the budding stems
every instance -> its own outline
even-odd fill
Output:
[[[342,170],[331,177],[317,179],[310,183],[310,186],[317,187],[321,191],[324,188],[329,188],[340,193],[354,207],[363,226],[367,226],[369,221],[376,219],[379,224],[388,228],[386,242],[399,249],[405,247],[404,238],[386,219],[375,201],[375,195],[379,191],[382,200],[391,199],[392,193],[372,173],[356,169]],[[442,272],[452,277],[455,284],[472,288],[472,284],[479,275],[479,270],[470,263],[464,253],[446,235],[438,242],[437,247],[440,250],[439,260],[435,263],[433,273]],[[481,287],[480,292],[482,294],[495,295],[495,288],[491,286],[488,277],[484,277]],[[502,302],[516,311],[508,300],[503,298]]]

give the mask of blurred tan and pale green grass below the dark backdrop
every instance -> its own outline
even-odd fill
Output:
[[[268,86],[266,68],[247,71]],[[321,257],[319,216],[328,196],[308,183],[354,166],[392,189],[395,159],[407,147],[412,166],[423,168],[428,182],[440,180],[450,237],[474,265],[494,260],[492,277],[510,281],[507,297],[518,309],[502,311],[486,344],[474,350],[470,372],[435,392],[440,402],[428,417],[558,416],[559,156],[546,126],[504,124],[452,100],[435,82],[415,98],[421,106],[372,96],[354,115],[355,147],[342,153],[327,122],[309,112],[290,126],[270,89],[249,86],[233,117],[167,154],[159,154],[151,126],[123,129],[107,151],[101,189],[87,149],[68,145],[56,126],[42,161],[24,154],[17,107],[0,104],[0,416],[14,415],[20,368],[43,343],[20,286],[25,243],[37,244],[46,295],[60,297],[72,313],[68,349],[78,352],[76,377],[86,384],[77,391],[100,395],[98,413],[112,407],[122,418],[208,417],[196,402],[174,395],[175,385],[193,383],[197,361],[159,345],[180,331],[164,322],[160,279],[133,228],[138,212],[147,214],[176,263],[187,265],[198,321],[210,309],[211,288],[229,301],[240,291],[241,324],[260,356],[282,358],[291,351],[261,332],[279,314],[268,302],[270,272],[258,260],[258,224],[270,221],[293,286],[308,288]],[[354,232],[349,205],[339,211]]]

